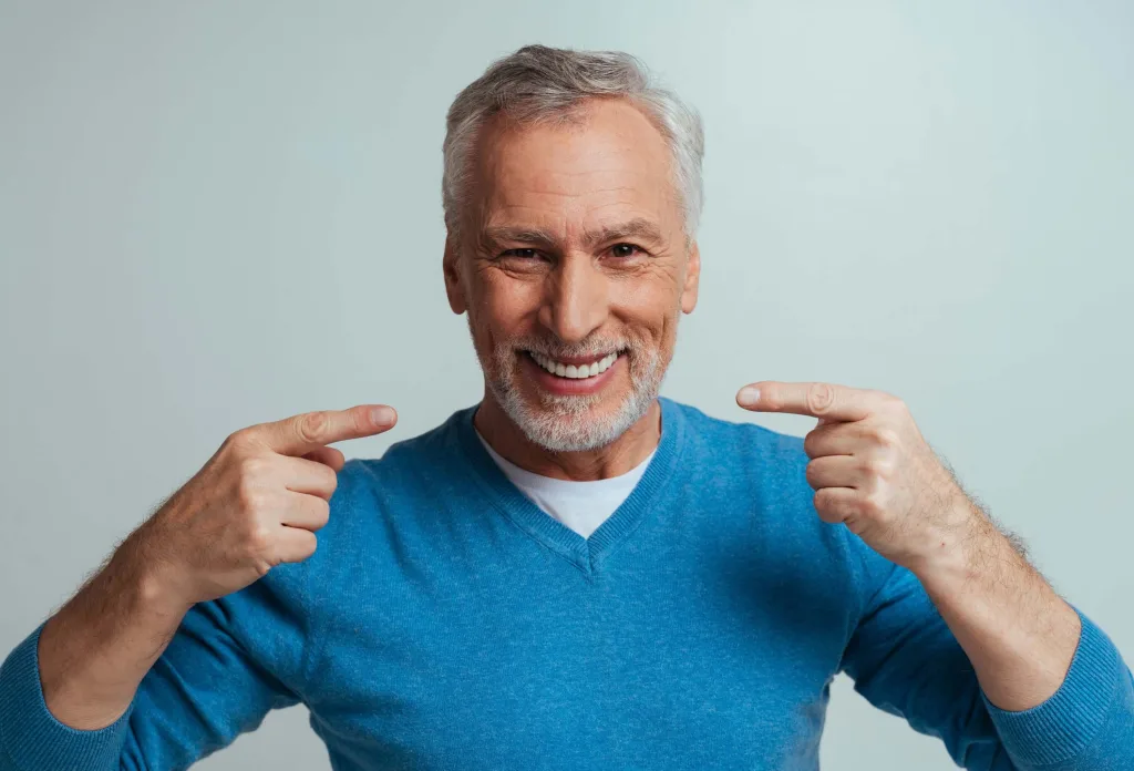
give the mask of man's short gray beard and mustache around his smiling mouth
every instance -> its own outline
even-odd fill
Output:
[[[661,391],[661,382],[666,375],[657,349],[637,341],[627,341],[627,345],[618,348],[623,349],[621,355],[628,359],[631,392],[612,415],[591,414],[592,408],[601,403],[598,395],[541,393],[540,404],[533,407],[521,395],[516,383],[518,356],[525,355],[517,354],[519,348],[543,350],[540,345],[525,346],[522,341],[500,342],[489,356],[477,350],[484,381],[501,409],[528,441],[552,452],[581,452],[613,442],[646,415]],[[574,346],[574,349],[559,347],[557,351],[543,351],[551,356],[587,356],[603,353],[599,348],[592,344],[585,347]]]

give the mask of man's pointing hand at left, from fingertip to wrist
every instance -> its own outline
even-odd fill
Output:
[[[344,464],[327,444],[396,422],[389,407],[362,406],[237,431],[130,536],[141,571],[163,600],[187,609],[311,557]]]

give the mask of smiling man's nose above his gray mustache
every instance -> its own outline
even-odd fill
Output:
[[[579,342],[602,325],[608,313],[607,277],[591,255],[565,255],[548,274],[540,323],[564,342]]]

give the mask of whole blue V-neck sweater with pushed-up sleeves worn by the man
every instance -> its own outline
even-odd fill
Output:
[[[815,769],[840,671],[968,769],[1134,769],[1134,679],[1090,620],[1051,698],[996,709],[916,578],[815,515],[802,439],[661,405],[590,539],[474,408],[348,463],[315,554],[195,605],[104,729],[46,711],[36,629],[0,670],[0,769],[184,769],[299,702],[337,771]]]

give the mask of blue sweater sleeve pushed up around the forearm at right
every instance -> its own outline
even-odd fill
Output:
[[[1089,618],[1080,612],[1083,632],[1059,689],[1030,710],[1000,710],[917,578],[852,537],[864,605],[843,669],[855,690],[939,737],[971,771],[1134,769],[1134,678]]]

